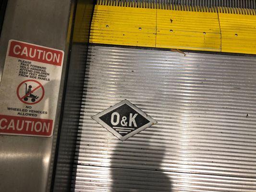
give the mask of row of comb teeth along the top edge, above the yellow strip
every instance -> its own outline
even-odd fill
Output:
[[[97,0],[98,5],[256,15],[256,0]]]

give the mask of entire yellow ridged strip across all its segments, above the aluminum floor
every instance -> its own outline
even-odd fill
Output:
[[[90,43],[256,54],[256,16],[96,5]]]

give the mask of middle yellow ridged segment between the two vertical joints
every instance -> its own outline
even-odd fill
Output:
[[[157,48],[220,51],[218,13],[158,10]]]

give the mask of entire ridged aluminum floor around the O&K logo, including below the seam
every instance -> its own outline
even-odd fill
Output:
[[[256,191],[256,58],[91,46],[76,192]],[[91,116],[128,99],[158,123],[122,142]]]

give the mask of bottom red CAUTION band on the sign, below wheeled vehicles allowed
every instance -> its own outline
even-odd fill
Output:
[[[0,115],[0,134],[51,136],[53,120]]]

